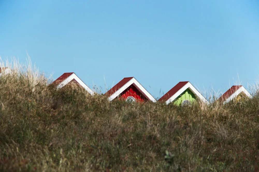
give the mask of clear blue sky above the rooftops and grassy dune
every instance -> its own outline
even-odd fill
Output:
[[[259,2],[3,1],[0,55],[26,51],[53,79],[75,72],[89,87],[134,76],[154,97],[179,81],[226,91],[258,80]],[[233,80],[234,78],[234,80]]]

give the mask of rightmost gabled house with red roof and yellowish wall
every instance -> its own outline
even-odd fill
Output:
[[[251,94],[242,85],[233,85],[222,96],[220,96],[218,100],[225,104],[233,99],[239,101],[243,98],[251,97]]]

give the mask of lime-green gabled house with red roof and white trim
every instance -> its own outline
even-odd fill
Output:
[[[190,104],[197,99],[208,104],[208,101],[205,99],[205,97],[200,94],[200,92],[189,81],[184,81],[176,84],[158,101],[165,102],[166,104],[172,102],[175,105],[185,105]]]

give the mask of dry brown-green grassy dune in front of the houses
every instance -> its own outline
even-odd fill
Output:
[[[258,171],[258,150],[258,95],[182,108],[0,78],[0,171]]]

